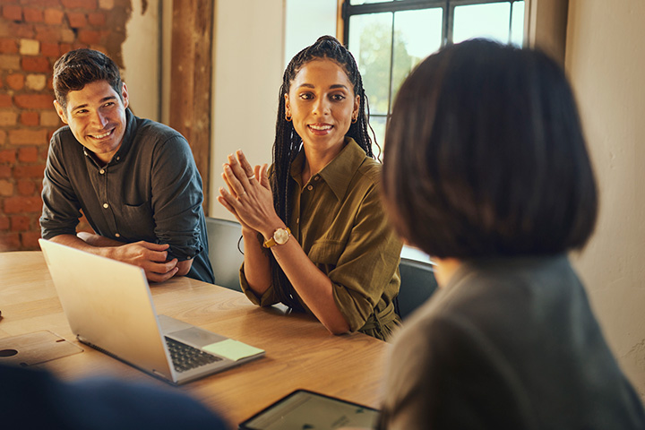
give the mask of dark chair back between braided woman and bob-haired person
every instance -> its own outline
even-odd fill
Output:
[[[408,258],[399,264],[401,285],[394,299],[394,309],[405,320],[418,306],[423,305],[437,288],[433,265]]]

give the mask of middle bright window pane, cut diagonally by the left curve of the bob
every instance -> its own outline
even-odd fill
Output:
[[[441,47],[442,20],[442,8],[394,13],[392,103],[412,69]]]

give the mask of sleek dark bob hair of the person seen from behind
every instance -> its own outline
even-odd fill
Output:
[[[472,39],[400,88],[383,199],[400,236],[438,258],[557,254],[593,232],[597,187],[563,70]]]

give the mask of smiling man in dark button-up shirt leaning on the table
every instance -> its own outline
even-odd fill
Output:
[[[54,64],[52,136],[43,180],[42,236],[141,266],[149,280],[214,282],[202,178],[185,138],[134,116],[116,64],[76,49]],[[95,233],[76,233],[82,213]]]

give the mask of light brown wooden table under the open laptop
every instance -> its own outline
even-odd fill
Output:
[[[237,291],[198,280],[168,280],[151,291],[158,314],[266,350],[266,357],[177,388],[235,428],[297,388],[379,407],[389,344],[361,333],[333,336],[309,315],[259,308]],[[164,384],[75,340],[38,251],[0,253],[0,310],[0,338],[48,330],[84,349],[43,365],[64,379],[115,374]]]

